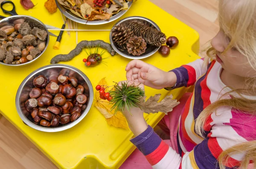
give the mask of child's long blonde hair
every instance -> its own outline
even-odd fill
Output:
[[[231,7],[229,5],[231,3],[232,9],[229,9],[227,13],[226,11]],[[247,57],[250,66],[256,70],[256,0],[219,0],[218,19],[221,29],[230,37],[230,43],[223,54],[236,47],[241,54]],[[211,46],[205,49],[204,52],[206,52],[205,64],[208,64],[209,60],[215,59],[216,52]],[[239,97],[232,95],[234,92]],[[220,106],[230,106],[241,113],[256,115],[256,100],[247,99],[242,94],[256,96],[256,77],[248,77],[244,89],[234,89],[225,94],[232,95],[231,99],[223,99],[222,96],[215,103],[207,106],[196,119],[196,133],[204,137],[203,126],[207,117]],[[250,162],[256,163],[256,140],[247,141],[224,150],[218,157],[220,168],[225,169],[225,166],[228,166],[230,155],[241,152],[245,152],[245,156],[240,163],[240,167],[247,169]]]

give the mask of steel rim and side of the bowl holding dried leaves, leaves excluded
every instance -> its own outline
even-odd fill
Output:
[[[113,20],[118,19],[119,17],[121,17],[123,14],[125,14],[126,11],[128,11],[131,7],[132,1],[127,2],[128,3],[128,9],[127,10],[122,10],[120,11],[118,14],[115,14],[113,17],[111,17],[109,20],[92,20],[92,21],[87,21],[84,20],[78,16],[76,16],[75,14],[73,14],[72,12],[70,12],[68,9],[64,8],[59,2],[58,0],[55,0],[58,9],[61,11],[62,14],[65,15],[65,17],[69,18],[70,20],[73,20],[77,23],[81,23],[81,24],[86,24],[86,25],[102,25],[105,23],[110,23]]]

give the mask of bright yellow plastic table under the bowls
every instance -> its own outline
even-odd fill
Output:
[[[49,14],[44,8],[46,0],[32,1],[37,5],[33,9],[25,10],[20,5],[20,0],[13,0],[17,14],[30,15],[38,18],[44,24],[61,28],[63,20],[59,10],[54,14]],[[0,15],[7,16],[2,11]],[[176,49],[171,49],[168,57],[162,57],[157,52],[143,61],[164,71],[169,71],[199,58],[197,55],[199,50],[198,33],[153,3],[148,0],[134,2],[120,19],[129,16],[147,17],[157,23],[167,37],[176,36],[180,41]],[[79,24],[79,29],[111,29],[117,21],[99,26]],[[52,33],[58,35],[59,32],[52,31]],[[81,40],[104,40],[109,43],[109,33],[79,32],[78,42]],[[108,126],[103,115],[94,106],[79,124],[56,133],[32,129],[25,125],[17,114],[15,95],[20,83],[35,69],[49,65],[51,58],[56,54],[67,54],[74,49],[76,47],[76,32],[71,32],[70,36],[67,32],[63,34],[59,50],[52,48],[55,41],[56,37],[50,37],[46,52],[32,64],[21,67],[0,65],[0,112],[61,169],[117,169],[135,149],[135,146],[129,141],[133,135],[129,130]],[[61,63],[75,66],[84,72],[93,84],[93,88],[103,77],[107,77],[108,84],[113,81],[125,80],[125,66],[131,60],[120,55],[111,56],[108,52],[103,57],[109,57],[105,60],[106,65],[101,63],[96,67],[84,66],[82,59],[87,58],[84,51],[73,60]],[[186,89],[181,88],[175,89],[171,93],[175,98],[179,98],[184,92]],[[145,93],[147,96],[157,93],[161,93],[163,96],[170,94],[164,89],[155,90],[149,87],[145,87]],[[154,127],[163,116],[163,113],[158,113],[145,115],[145,118],[148,119],[148,124]]]

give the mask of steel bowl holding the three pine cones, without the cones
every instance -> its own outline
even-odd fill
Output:
[[[113,28],[116,26],[116,25],[119,25],[121,23],[128,23],[128,22],[132,22],[132,21],[135,21],[135,20],[139,20],[139,21],[142,21],[142,22],[146,22],[147,24],[155,27],[158,31],[161,31],[160,28],[157,26],[156,23],[154,23],[152,20],[148,19],[148,18],[145,18],[145,17],[126,17],[122,20],[119,20],[114,26]],[[112,29],[113,29],[112,28]],[[111,30],[112,30],[111,29]],[[112,39],[112,31],[110,32],[110,35],[109,35],[109,39],[110,39],[110,43],[111,43],[111,46],[112,48],[116,51],[116,53],[120,54],[121,56],[123,57],[126,57],[126,58],[129,58],[129,59],[144,59],[146,57],[150,57],[151,55],[153,55],[155,52],[158,51],[158,49],[160,48],[157,47],[157,46],[152,46],[152,45],[147,45],[147,49],[146,49],[146,52],[143,53],[142,55],[140,56],[133,56],[132,54],[129,54],[128,52],[123,52],[123,51],[120,51],[119,49],[117,49],[116,45],[113,43],[113,39]]]

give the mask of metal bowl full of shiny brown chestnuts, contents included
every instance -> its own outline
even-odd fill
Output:
[[[79,69],[68,65],[41,67],[25,78],[16,95],[16,109],[25,124],[59,132],[79,123],[93,103],[93,87]]]

